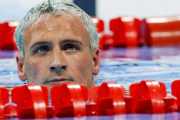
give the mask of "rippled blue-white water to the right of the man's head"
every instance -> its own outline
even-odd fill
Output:
[[[167,90],[170,90],[172,81],[180,79],[180,62],[175,64],[175,61],[172,63],[172,60],[167,59],[105,59],[101,62],[100,73],[95,76],[95,83],[100,85],[103,82],[116,81],[128,89],[132,83],[150,79],[165,83]]]

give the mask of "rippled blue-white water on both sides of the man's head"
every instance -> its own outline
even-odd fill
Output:
[[[173,62],[171,60],[173,59]],[[116,81],[126,89],[132,83],[153,79],[165,83],[170,90],[173,80],[180,79],[180,56],[169,56],[156,60],[114,58],[101,60],[101,70],[95,84]],[[0,86],[24,85],[19,80],[15,58],[0,59]]]

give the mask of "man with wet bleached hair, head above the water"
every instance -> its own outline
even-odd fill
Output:
[[[18,76],[49,89],[63,83],[94,86],[100,70],[96,27],[83,10],[67,0],[33,7],[15,31]]]

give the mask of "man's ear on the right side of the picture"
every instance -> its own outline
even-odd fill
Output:
[[[100,58],[99,58],[99,49],[94,49],[92,53],[92,59],[93,59],[93,64],[92,64],[92,72],[93,75],[97,75],[100,70]]]

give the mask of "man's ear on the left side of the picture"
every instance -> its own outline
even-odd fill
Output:
[[[18,55],[16,55],[16,62],[17,62],[18,76],[22,81],[24,81],[27,79],[26,72],[24,69],[24,58],[20,54],[18,54]]]

